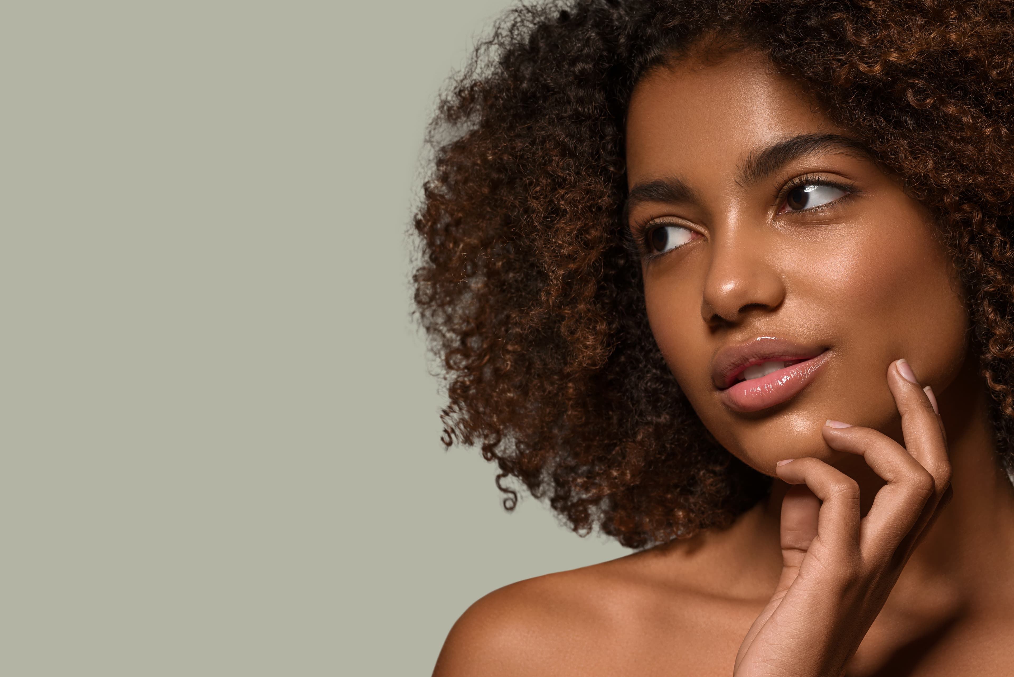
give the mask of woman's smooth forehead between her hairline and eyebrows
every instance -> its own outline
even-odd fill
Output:
[[[751,152],[800,134],[841,133],[796,82],[759,54],[686,59],[641,79],[627,116],[631,184],[741,166]]]

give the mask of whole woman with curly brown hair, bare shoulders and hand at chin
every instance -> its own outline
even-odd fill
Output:
[[[524,8],[443,99],[417,303],[478,444],[630,556],[436,675],[1009,674],[1014,21]]]

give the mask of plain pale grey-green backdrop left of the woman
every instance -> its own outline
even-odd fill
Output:
[[[439,442],[408,228],[508,3],[0,13],[0,674],[427,675],[626,552]]]

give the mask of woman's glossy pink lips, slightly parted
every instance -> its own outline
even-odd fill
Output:
[[[758,411],[798,394],[829,356],[830,352],[825,348],[762,336],[719,351],[712,361],[712,380],[726,406],[736,411]],[[796,364],[760,378],[736,382],[745,369],[764,362]]]

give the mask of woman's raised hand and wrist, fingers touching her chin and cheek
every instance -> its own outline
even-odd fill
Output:
[[[774,596],[736,656],[736,677],[841,675],[876,618],[950,484],[933,391],[903,360],[887,383],[904,444],[869,428],[828,421],[831,449],[863,456],[887,483],[860,519],[859,485],[816,458],[781,461],[783,569]]]

